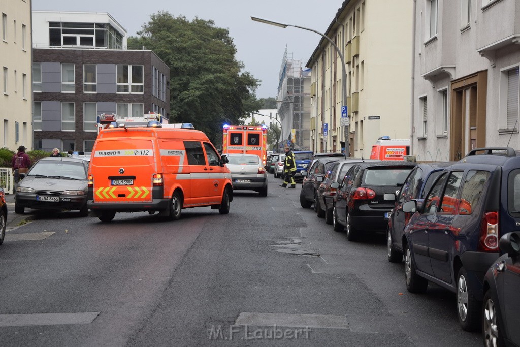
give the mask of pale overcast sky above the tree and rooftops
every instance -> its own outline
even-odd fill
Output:
[[[133,36],[150,15],[164,10],[174,17],[213,20],[227,28],[237,47],[237,60],[256,79],[262,80],[257,97],[276,97],[283,52],[307,60],[321,36],[302,29],[285,29],[254,22],[251,16],[299,25],[324,33],[343,0],[32,0],[33,10],[108,12]],[[138,5],[136,5],[138,4]]]

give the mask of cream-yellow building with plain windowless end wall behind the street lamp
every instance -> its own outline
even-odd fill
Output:
[[[369,158],[380,136],[410,138],[412,3],[345,0],[324,32],[346,64],[352,157]],[[318,152],[339,152],[345,142],[341,64],[325,38],[307,63],[312,69],[311,148]]]

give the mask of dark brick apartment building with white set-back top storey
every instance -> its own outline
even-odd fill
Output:
[[[170,68],[106,12],[33,11],[34,148],[90,151],[102,113],[170,116]]]

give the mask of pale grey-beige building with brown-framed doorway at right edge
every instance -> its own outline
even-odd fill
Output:
[[[520,149],[520,2],[416,4],[412,155],[445,161],[473,148]]]

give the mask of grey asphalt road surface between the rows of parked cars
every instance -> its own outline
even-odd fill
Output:
[[[269,179],[266,198],[236,191],[228,215],[176,222],[9,212],[2,345],[482,344],[460,329],[454,294],[407,292],[384,236],[349,242],[301,208],[301,185]]]

